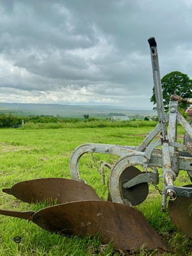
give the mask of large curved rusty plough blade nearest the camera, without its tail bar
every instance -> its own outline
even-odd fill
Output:
[[[54,205],[36,212],[32,221],[59,234],[81,237],[100,234],[102,243],[113,243],[122,250],[143,245],[170,250],[140,211],[114,202],[90,200]]]

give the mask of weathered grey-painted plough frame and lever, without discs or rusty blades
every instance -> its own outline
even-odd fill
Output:
[[[159,172],[157,168],[163,170],[163,191],[162,210],[166,207],[166,198],[174,200],[177,196],[192,197],[191,188],[174,186],[174,180],[179,175],[180,170],[188,172],[192,180],[192,148],[190,144],[182,144],[177,141],[177,122],[184,128],[186,134],[192,139],[192,128],[187,120],[179,113],[179,102],[192,104],[191,99],[182,99],[177,95],[170,97],[169,111],[165,114],[163,104],[163,93],[159,72],[159,60],[157,54],[157,44],[155,38],[149,38],[150,54],[152,60],[152,71],[154,77],[154,88],[157,103],[157,114],[159,123],[148,134],[145,140],[138,147],[122,145],[108,145],[88,143],[80,145],[74,150],[70,159],[70,174],[72,179],[84,182],[79,175],[79,159],[86,153],[103,153],[119,156],[120,158],[111,168],[108,186],[113,202],[130,205],[122,196],[120,175],[129,166],[140,165],[145,172],[126,182],[123,187],[131,188],[142,182],[159,183]],[[168,127],[168,131],[167,131]],[[154,140],[160,134],[159,140]],[[161,146],[161,148],[159,148]],[[158,147],[158,148],[157,148]],[[148,172],[152,168],[153,172]]]

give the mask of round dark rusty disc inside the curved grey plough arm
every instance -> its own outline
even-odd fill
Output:
[[[120,189],[122,197],[131,202],[132,206],[141,204],[147,198],[148,183],[141,183],[129,189],[124,188],[123,185],[141,173],[142,172],[138,168],[130,166],[120,175]]]

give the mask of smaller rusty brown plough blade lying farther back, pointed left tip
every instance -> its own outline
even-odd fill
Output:
[[[83,182],[71,179],[34,179],[16,183],[3,192],[23,202],[54,202],[63,204],[81,200],[100,200],[95,190]]]

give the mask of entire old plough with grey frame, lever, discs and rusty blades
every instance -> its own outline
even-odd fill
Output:
[[[81,237],[100,234],[103,243],[112,243],[118,249],[131,250],[145,245],[150,249],[171,250],[150,227],[143,214],[133,207],[147,198],[148,183],[152,183],[162,195],[162,211],[166,211],[168,201],[168,211],[174,225],[192,237],[192,186],[174,185],[180,170],[188,172],[192,179],[192,128],[178,111],[179,102],[192,104],[192,100],[173,95],[170,97],[169,112],[165,115],[155,38],[149,38],[148,43],[159,117],[153,131],[138,147],[93,143],[80,145],[70,159],[72,180],[28,180],[3,189],[24,202],[56,200],[57,205],[37,212],[0,210],[0,214],[31,220],[45,230],[59,234]],[[186,131],[183,144],[177,142],[177,122]],[[160,134],[160,139],[154,140],[157,134]],[[94,189],[79,175],[79,159],[88,152],[120,157],[111,167],[108,178],[112,202],[100,200]],[[162,168],[162,176],[157,168]],[[162,191],[157,187],[159,178],[163,180]]]

